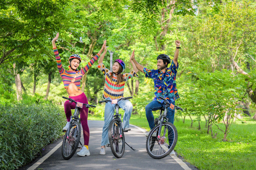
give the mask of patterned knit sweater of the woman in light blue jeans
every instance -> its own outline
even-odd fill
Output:
[[[111,99],[118,99],[124,96],[124,84],[127,80],[131,79],[132,77],[138,75],[132,70],[130,73],[124,73],[124,81],[117,83],[116,74],[114,73],[113,79],[110,80],[110,75],[112,72],[110,72],[103,63],[98,65],[98,68],[102,71],[102,73],[105,75],[105,87],[103,95],[105,98],[110,97]]]

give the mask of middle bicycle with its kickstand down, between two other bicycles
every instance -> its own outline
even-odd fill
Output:
[[[119,114],[120,107],[118,105],[118,101],[131,99],[131,98],[132,97],[122,97],[119,99],[113,99],[113,100],[108,99],[108,100],[99,101],[99,103],[111,102],[111,104],[115,104],[115,108],[113,109],[115,109],[116,114],[113,115],[113,120],[110,121],[108,126],[108,140],[109,140],[109,147],[111,148],[111,151],[116,158],[122,158],[122,156],[124,155],[125,144],[129,146],[125,142],[125,138],[124,138],[124,130],[122,128],[122,120],[121,120],[122,115]],[[132,150],[135,150],[131,146],[129,147]]]

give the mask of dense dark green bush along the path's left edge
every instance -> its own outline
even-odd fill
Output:
[[[17,169],[35,159],[61,135],[64,112],[52,104],[0,105],[0,169]]]

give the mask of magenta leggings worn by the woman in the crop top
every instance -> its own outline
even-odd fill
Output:
[[[85,96],[84,93],[82,93],[79,96],[69,96],[69,98],[74,99],[75,101],[81,102],[83,104],[88,104],[87,97]],[[67,117],[67,121],[70,122],[70,116],[71,116],[71,109],[76,108],[75,103],[69,103],[69,100],[65,101],[64,104],[65,108],[65,113]],[[83,108],[80,108],[80,120],[83,128],[83,134],[84,134],[84,145],[89,145],[89,138],[90,138],[90,131],[89,131],[89,126],[87,123],[87,118],[88,118],[88,108],[83,106]]]

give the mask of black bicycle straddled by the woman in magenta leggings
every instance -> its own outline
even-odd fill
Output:
[[[69,100],[69,102],[71,103],[74,102],[76,104],[74,116],[71,115],[70,125],[64,135],[62,146],[61,146],[61,155],[64,159],[68,160],[71,157],[73,157],[73,155],[75,154],[79,143],[81,146],[83,146],[80,141],[80,138],[81,138],[81,121],[79,118],[80,108],[83,108],[83,106],[87,108],[89,107],[95,108],[96,106],[83,104],[78,101],[75,101],[74,99],[67,98],[64,96],[62,96],[62,98],[65,98]]]

